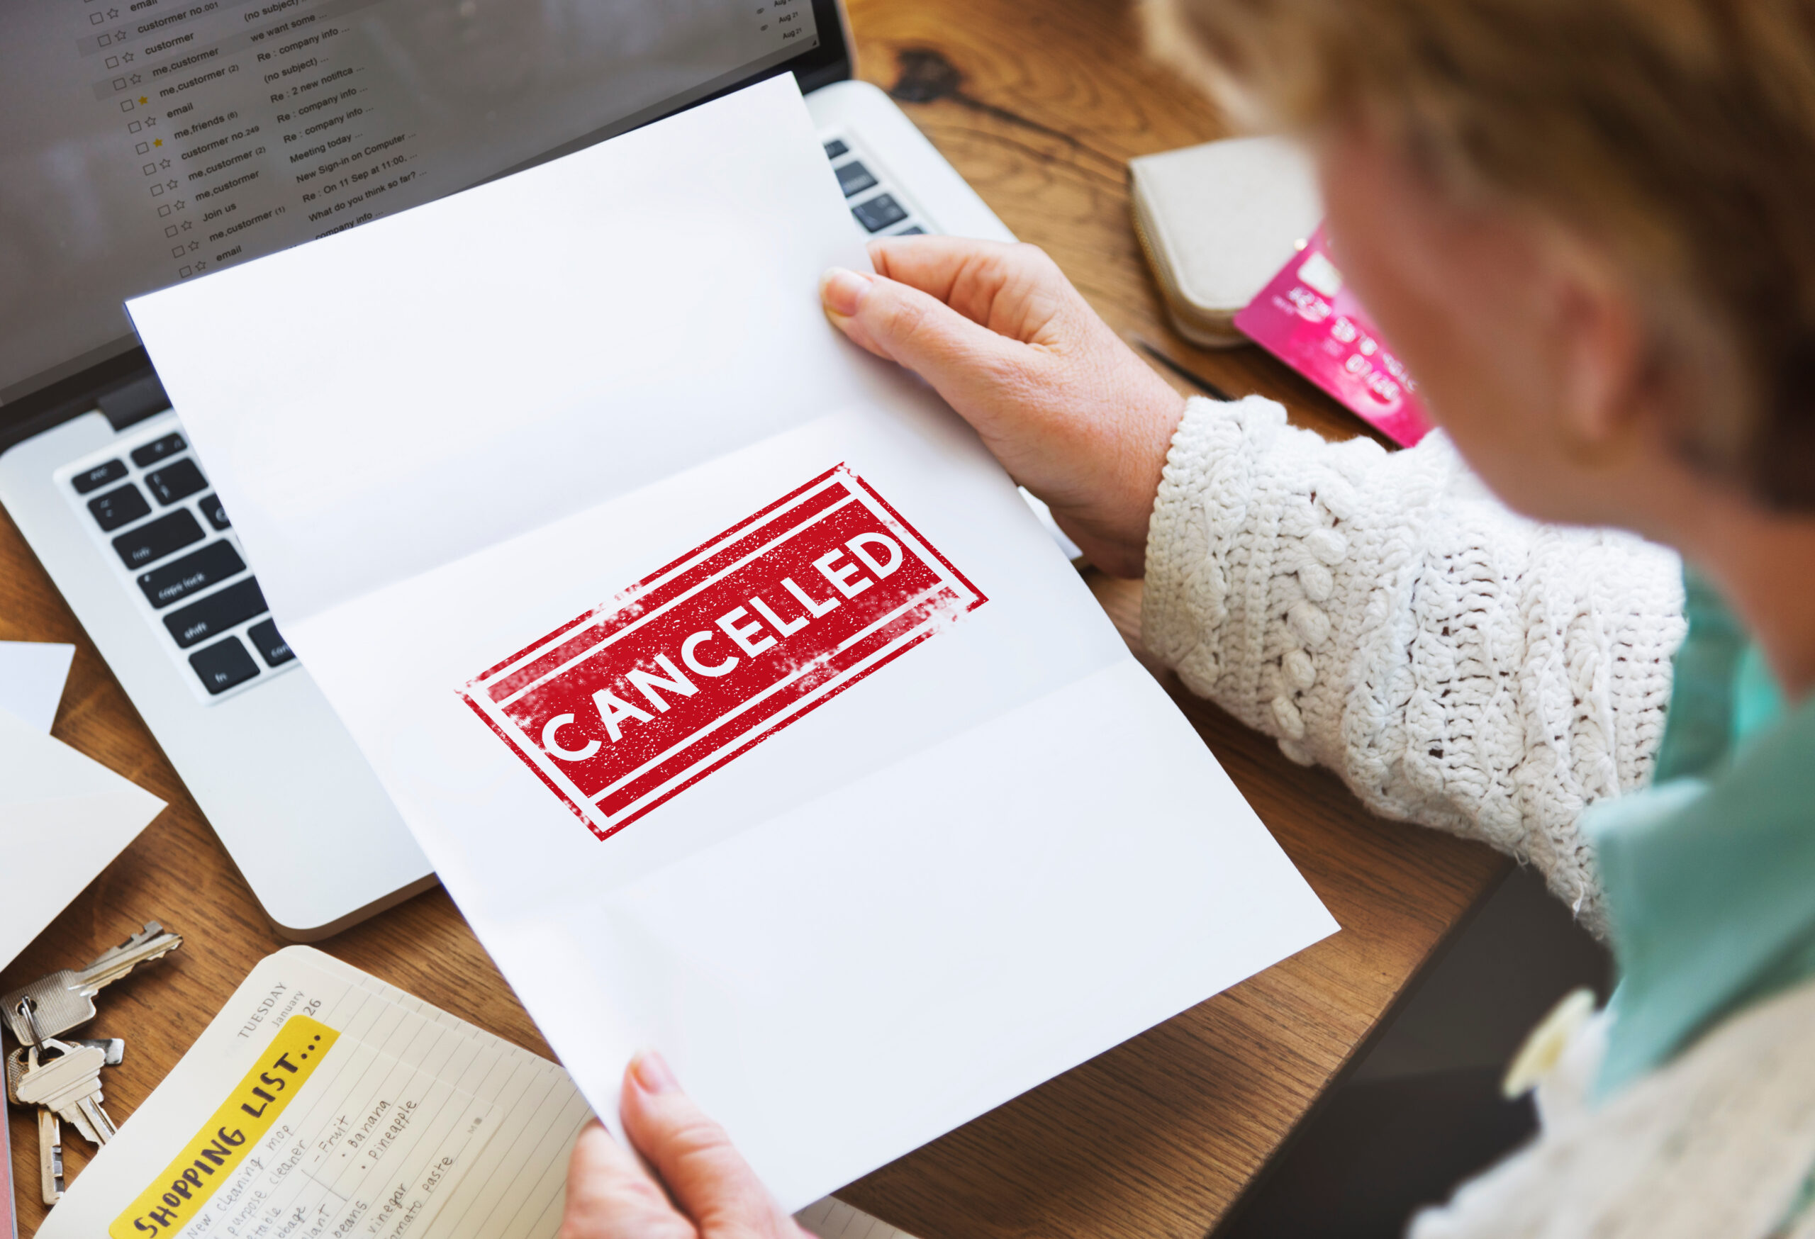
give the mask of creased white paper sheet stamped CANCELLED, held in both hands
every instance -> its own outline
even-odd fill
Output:
[[[975,435],[826,325],[831,265],[862,238],[779,78],[129,305],[287,639],[594,1108],[659,1047],[790,1208],[1336,929]],[[657,570],[815,477],[987,600],[601,840],[555,749],[603,713],[519,756],[463,688],[646,579],[595,619],[655,631]]]

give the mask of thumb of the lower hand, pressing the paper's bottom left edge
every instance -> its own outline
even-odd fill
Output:
[[[702,1235],[800,1235],[724,1128],[681,1092],[659,1054],[632,1059],[619,1108],[630,1139]]]

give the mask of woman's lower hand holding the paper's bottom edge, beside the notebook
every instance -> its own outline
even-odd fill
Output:
[[[661,1179],[588,1123],[568,1163],[561,1239],[811,1239],[659,1054],[639,1054],[624,1068],[619,1114]]]

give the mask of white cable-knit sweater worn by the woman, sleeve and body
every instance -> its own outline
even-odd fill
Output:
[[[1675,555],[1512,515],[1441,434],[1332,444],[1249,397],[1191,401],[1172,439],[1147,648],[1372,811],[1530,862],[1597,934],[1577,820],[1648,782],[1684,631]],[[1590,1107],[1601,1019],[1539,1087],[1534,1145],[1414,1239],[1815,1239],[1791,1205],[1815,1165],[1815,985]]]

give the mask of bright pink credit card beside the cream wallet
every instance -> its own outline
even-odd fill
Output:
[[[1236,327],[1392,441],[1412,446],[1430,430],[1418,383],[1349,292],[1321,223]]]

